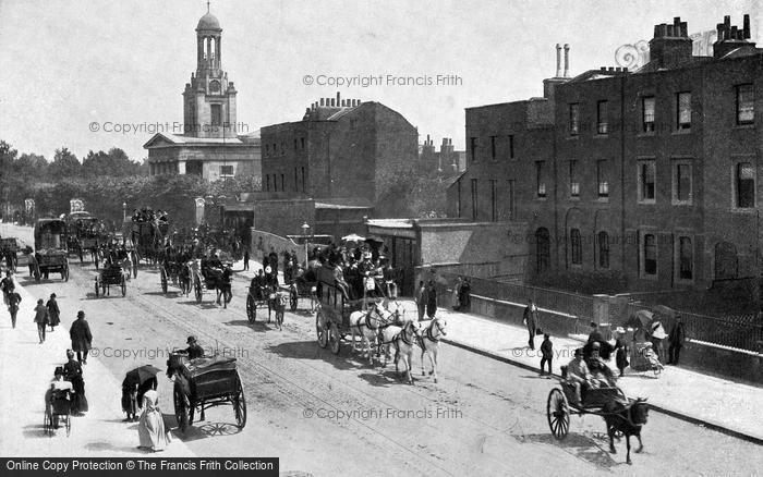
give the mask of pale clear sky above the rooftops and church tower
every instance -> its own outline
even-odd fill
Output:
[[[339,91],[397,110],[420,142],[451,137],[462,149],[464,108],[543,96],[557,42],[570,45],[571,75],[617,66],[620,46],[649,41],[654,25],[674,16],[698,33],[724,15],[741,27],[749,13],[763,46],[759,3],[211,0],[210,11],[222,27],[222,69],[239,91],[244,131],[299,121],[312,102]],[[0,0],[0,139],[49,160],[63,146],[80,158],[120,147],[143,160],[156,125],[183,120],[195,28],[206,11],[201,0]],[[438,85],[437,75],[450,84]],[[382,81],[329,84],[371,76]],[[393,80],[400,76],[424,84]]]

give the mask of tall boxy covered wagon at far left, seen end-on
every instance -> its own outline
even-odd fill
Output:
[[[69,281],[69,253],[66,249],[66,223],[61,219],[38,219],[35,223],[35,255],[31,264],[35,281],[60,272]]]

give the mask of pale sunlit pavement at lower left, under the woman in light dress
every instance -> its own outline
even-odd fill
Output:
[[[11,327],[8,309],[0,309],[0,348],[3,365],[0,366],[0,382],[7,392],[0,397],[0,449],[4,456],[24,455],[39,457],[72,456],[86,452],[93,456],[146,456],[137,448],[137,423],[123,423],[125,417],[120,402],[122,383],[101,364],[89,357],[83,366],[85,395],[89,412],[72,417],[71,435],[60,428],[49,438],[44,431],[45,392],[53,378],[56,366],[66,362],[66,350],[71,347],[69,328],[74,317],[62,316],[61,326],[46,333],[45,343],[39,344],[34,307],[38,298],[16,282],[22,296],[16,328]],[[97,345],[97,343],[94,343]],[[39,405],[19,405],[32,400]],[[172,414],[171,395],[159,397],[165,414]],[[169,416],[168,416],[169,417]],[[174,421],[174,417],[170,417]],[[33,424],[29,424],[33,423]],[[167,449],[156,455],[167,457],[193,456],[180,439],[172,439]]]

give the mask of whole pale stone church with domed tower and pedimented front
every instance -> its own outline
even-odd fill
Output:
[[[155,134],[143,146],[150,175],[259,176],[258,132],[237,122],[238,91],[222,70],[221,53],[222,28],[207,12],[196,26],[196,72],[183,91],[183,124]]]

